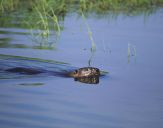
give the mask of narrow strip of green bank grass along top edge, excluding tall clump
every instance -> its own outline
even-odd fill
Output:
[[[147,9],[163,5],[163,0],[0,0],[0,12],[13,12],[24,9],[34,11],[35,3],[47,3],[56,15],[70,11],[106,12]],[[47,8],[48,9],[48,8]]]

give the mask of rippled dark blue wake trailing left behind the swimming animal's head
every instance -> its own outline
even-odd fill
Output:
[[[29,75],[37,75],[40,73],[48,73],[49,75],[66,74],[76,69],[64,62],[41,60],[37,58],[26,58],[11,55],[0,55],[0,79],[10,78],[8,76],[29,77]],[[10,75],[11,74],[11,75]],[[11,79],[11,78],[10,78]]]

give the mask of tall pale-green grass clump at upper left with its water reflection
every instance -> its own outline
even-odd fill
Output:
[[[27,24],[30,26],[32,40],[39,44],[40,48],[52,48],[54,47],[54,40],[50,40],[50,35],[56,37],[56,39],[60,36],[60,26],[58,22],[58,18],[54,13],[54,10],[51,6],[46,2],[46,0],[41,0],[40,3],[35,3],[33,5],[33,16],[31,17]],[[47,9],[48,8],[48,9]],[[49,14],[50,13],[50,14]],[[36,23],[31,24],[34,21],[33,17],[36,17]],[[53,23],[53,34],[51,31],[51,24]]]

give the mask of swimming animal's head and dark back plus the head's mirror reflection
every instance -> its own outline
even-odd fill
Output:
[[[7,72],[20,73],[27,75],[37,75],[41,73],[48,73],[54,76],[72,77],[75,81],[88,84],[99,83],[100,70],[94,67],[83,67],[69,72],[47,71],[35,68],[15,67],[6,69]]]

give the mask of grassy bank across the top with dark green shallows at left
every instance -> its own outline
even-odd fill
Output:
[[[86,16],[91,13],[101,16],[109,14],[111,17],[119,13],[150,15],[162,6],[163,0],[0,0],[0,21],[1,26],[11,25],[10,20],[15,19],[21,23],[24,23],[21,19],[34,23],[43,16],[42,28],[48,26],[48,18],[55,22],[55,29],[60,31],[58,21],[64,21],[65,15],[71,12],[79,15],[83,12]],[[19,26],[29,27],[27,24]]]

